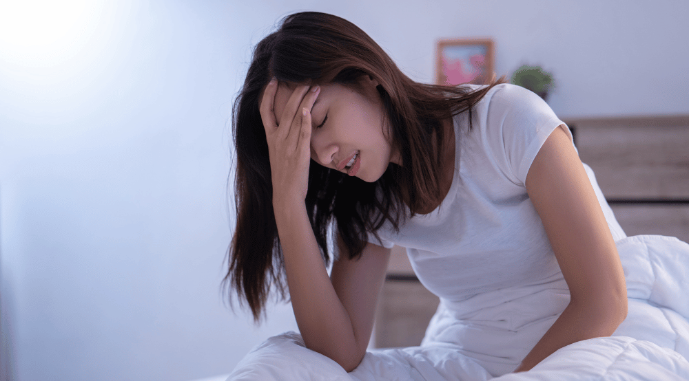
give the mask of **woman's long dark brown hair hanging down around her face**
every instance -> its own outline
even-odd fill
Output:
[[[282,250],[272,204],[272,186],[259,96],[270,78],[289,83],[338,83],[356,87],[358,78],[378,81],[377,90],[389,118],[402,166],[390,164],[376,182],[364,182],[311,161],[306,207],[326,265],[338,232],[350,258],[360,256],[367,232],[376,237],[384,221],[399,231],[405,202],[413,217],[442,197],[442,149],[446,131],[442,120],[469,111],[487,87],[416,83],[405,76],[371,37],[356,25],[332,14],[300,12],[280,22],[274,33],[254,48],[247,78],[234,102],[232,130],[236,149],[236,229],[230,243],[224,290],[234,290],[260,320],[271,287],[286,298]],[[471,129],[471,125],[469,126]],[[435,142],[433,135],[435,133]],[[356,190],[353,191],[353,190]],[[378,197],[377,195],[382,195]],[[227,284],[229,283],[229,285]]]

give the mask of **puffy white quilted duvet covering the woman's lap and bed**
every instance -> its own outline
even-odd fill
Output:
[[[531,371],[494,377],[453,345],[429,339],[438,332],[453,333],[455,320],[441,307],[421,347],[369,351],[351,373],[304,347],[298,334],[287,332],[253,349],[228,380],[689,380],[689,244],[660,235],[637,235],[615,243],[627,283],[626,320],[613,336],[563,347]],[[521,292],[520,303],[540,297]],[[547,310],[553,307],[531,303],[529,308],[530,312],[542,308],[548,316]],[[514,313],[509,303],[491,305],[488,310]],[[544,324],[551,325],[554,318]],[[528,334],[528,329],[522,331]],[[486,346],[495,345],[499,351],[500,342],[493,340],[486,340]]]

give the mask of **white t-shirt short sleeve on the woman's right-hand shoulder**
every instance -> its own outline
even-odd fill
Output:
[[[506,175],[515,184],[526,184],[526,173],[548,136],[559,125],[573,142],[569,128],[550,106],[532,91],[504,84],[495,91],[489,103],[488,134],[496,160],[504,160]],[[572,143],[574,146],[574,142]],[[579,154],[579,150],[574,146]],[[502,152],[501,152],[502,150]],[[504,153],[504,155],[502,155]]]

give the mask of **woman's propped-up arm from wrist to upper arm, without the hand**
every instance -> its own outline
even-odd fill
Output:
[[[307,348],[352,371],[371,337],[390,249],[369,243],[358,261],[350,261],[338,239],[341,259],[333,263],[331,282],[304,203],[293,205],[276,211],[276,222],[299,331]]]

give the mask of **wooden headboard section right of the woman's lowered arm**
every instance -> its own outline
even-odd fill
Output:
[[[689,116],[564,122],[628,236],[689,241]]]

